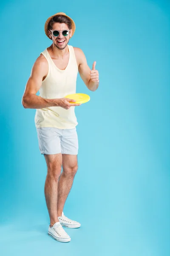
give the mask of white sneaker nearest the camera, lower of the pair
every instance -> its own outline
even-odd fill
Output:
[[[48,235],[52,236],[55,240],[59,242],[71,241],[70,236],[68,236],[68,234],[65,232],[59,221],[54,223],[52,227],[48,227]]]

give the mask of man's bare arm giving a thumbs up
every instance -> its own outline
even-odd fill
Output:
[[[96,76],[96,73],[99,76],[99,72],[95,70],[95,65],[93,65],[92,70],[88,67],[85,54],[80,48],[74,47],[74,52],[79,63],[79,74],[82,80],[89,90],[95,91],[99,86],[99,79],[97,79]],[[93,71],[93,69],[95,71]]]

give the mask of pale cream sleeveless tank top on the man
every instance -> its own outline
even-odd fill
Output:
[[[47,49],[40,54],[48,61],[48,74],[42,81],[40,97],[45,99],[59,99],[68,94],[76,93],[76,80],[78,66],[74,54],[74,48],[68,45],[69,61],[65,70],[60,70],[52,60]],[[56,127],[60,129],[75,128],[78,124],[74,113],[74,106],[68,110],[61,107],[49,107],[36,109],[35,125],[40,127]]]

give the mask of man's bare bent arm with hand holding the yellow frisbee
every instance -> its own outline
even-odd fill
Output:
[[[48,108],[48,107],[62,107],[69,109],[71,106],[79,106],[80,104],[73,104],[69,102],[75,102],[72,99],[44,99],[37,96],[36,93],[39,91],[42,80],[47,76],[48,73],[48,62],[43,55],[40,55],[35,61],[31,76],[29,77],[26,88],[22,97],[22,105],[24,108]]]

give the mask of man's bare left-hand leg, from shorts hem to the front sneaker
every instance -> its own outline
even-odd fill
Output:
[[[57,216],[57,194],[58,194],[58,180],[61,174],[62,154],[44,155],[48,172],[45,180],[45,200],[50,216],[50,227],[58,222]]]

